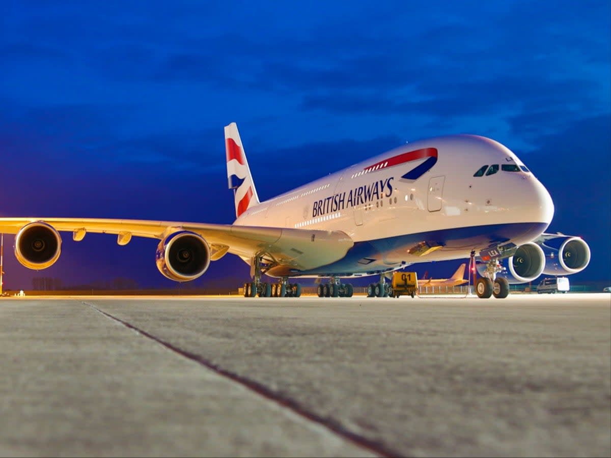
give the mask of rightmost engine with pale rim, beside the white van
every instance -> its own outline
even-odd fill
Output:
[[[567,275],[583,271],[590,263],[590,247],[579,237],[558,236],[541,244],[546,275]]]

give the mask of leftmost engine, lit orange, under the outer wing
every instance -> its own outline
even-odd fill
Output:
[[[53,266],[62,252],[62,238],[49,224],[35,221],[26,224],[15,236],[15,258],[28,269]]]

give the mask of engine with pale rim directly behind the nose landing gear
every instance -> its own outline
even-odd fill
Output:
[[[520,245],[513,256],[499,261],[504,267],[497,277],[507,278],[509,283],[532,282],[543,272],[545,267],[545,254],[539,245],[529,242]],[[486,272],[486,263],[477,263],[480,275]]]

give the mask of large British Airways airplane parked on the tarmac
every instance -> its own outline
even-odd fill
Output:
[[[15,234],[17,260],[54,264],[60,232],[157,239],[159,272],[177,282],[199,278],[226,253],[251,268],[246,297],[299,297],[298,278],[318,278],[320,297],[350,297],[344,278],[378,277],[370,296],[389,296],[387,275],[414,263],[470,258],[481,277],[477,296],[507,297],[510,283],[542,273],[579,272],[590,247],[579,237],[546,234],[554,216],[547,189],[509,148],[475,135],[417,140],[261,201],[235,123],[225,126],[233,224],[0,218]],[[329,162],[332,166],[333,162]],[[327,170],[325,170],[326,172]],[[277,278],[262,281],[262,275]]]

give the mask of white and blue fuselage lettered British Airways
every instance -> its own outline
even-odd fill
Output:
[[[392,164],[431,148],[436,162],[415,179],[403,177],[428,158]],[[496,173],[474,176],[494,164]],[[510,171],[516,166],[519,171]],[[553,214],[549,193],[513,152],[485,137],[461,135],[419,140],[351,165],[247,209],[235,224],[344,231],[357,247],[354,260],[349,253],[338,267],[304,273],[350,275],[524,244],[543,233]],[[358,248],[367,242],[373,249]],[[414,254],[419,242],[441,249]],[[359,249],[374,253],[365,256],[371,261],[362,261]]]

